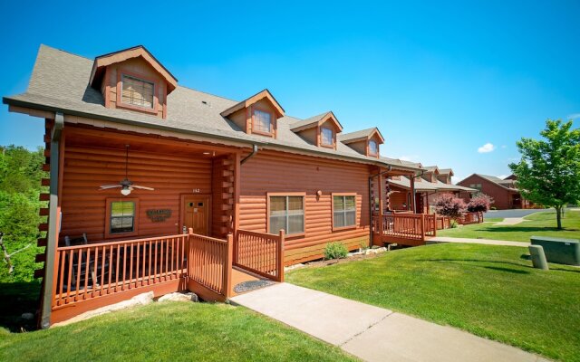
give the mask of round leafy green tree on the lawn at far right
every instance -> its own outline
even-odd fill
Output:
[[[580,129],[572,129],[572,120],[547,119],[540,135],[545,139],[517,141],[522,157],[509,168],[524,197],[556,209],[557,228],[562,229],[562,209],[580,200]]]

